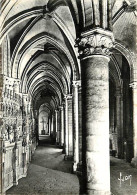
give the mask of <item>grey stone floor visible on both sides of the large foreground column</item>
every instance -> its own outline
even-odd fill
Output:
[[[41,145],[35,151],[27,177],[20,179],[18,186],[9,189],[7,195],[79,194],[79,180],[71,172],[72,162],[64,161],[61,149],[54,145]],[[132,175],[131,186],[129,180],[120,186],[120,172],[122,178]],[[137,169],[111,157],[111,191],[113,195],[136,195]]]

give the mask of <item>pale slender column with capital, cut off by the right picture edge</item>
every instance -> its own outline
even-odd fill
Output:
[[[130,84],[133,91],[133,143],[134,157],[131,164],[137,168],[137,81]]]

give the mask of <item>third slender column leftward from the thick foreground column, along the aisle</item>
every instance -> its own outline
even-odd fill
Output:
[[[61,131],[60,131],[60,145],[63,146],[64,144],[64,108],[60,106],[61,112]]]

